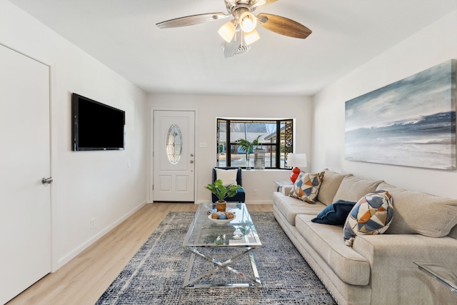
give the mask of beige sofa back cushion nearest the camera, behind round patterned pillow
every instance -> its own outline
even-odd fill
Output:
[[[457,199],[407,191],[386,183],[378,189],[385,189],[394,199],[395,217],[387,234],[442,237],[457,225]]]

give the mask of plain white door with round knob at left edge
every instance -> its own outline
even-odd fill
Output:
[[[0,304],[51,271],[49,66],[0,45]]]

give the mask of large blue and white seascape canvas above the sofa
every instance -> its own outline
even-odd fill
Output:
[[[346,160],[456,169],[456,60],[345,106]]]

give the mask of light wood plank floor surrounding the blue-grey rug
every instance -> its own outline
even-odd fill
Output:
[[[146,204],[134,215],[48,274],[7,305],[94,304],[169,211],[196,211],[196,204]],[[270,204],[248,205],[249,211],[273,211]]]

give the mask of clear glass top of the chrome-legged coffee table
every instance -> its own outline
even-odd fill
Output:
[[[235,214],[235,218],[226,224],[216,224],[208,218],[216,211],[215,204],[200,204],[196,211],[183,246],[261,246],[257,231],[253,225],[246,204],[227,203],[226,211]]]

